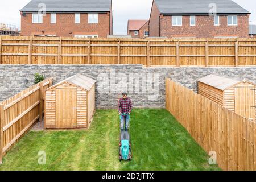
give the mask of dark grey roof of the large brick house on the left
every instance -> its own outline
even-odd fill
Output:
[[[112,2],[111,0],[32,0],[20,11],[42,10],[40,3],[45,3],[47,12],[106,12],[111,10]]]

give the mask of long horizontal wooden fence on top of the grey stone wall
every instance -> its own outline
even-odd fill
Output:
[[[0,36],[0,64],[251,67],[256,39],[102,39]]]

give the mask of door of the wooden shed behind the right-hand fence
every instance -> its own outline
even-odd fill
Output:
[[[235,112],[246,118],[255,119],[255,88],[234,88]]]

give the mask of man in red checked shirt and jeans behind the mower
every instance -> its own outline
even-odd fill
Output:
[[[118,112],[119,115],[121,115],[120,128],[123,129],[123,125],[125,122],[126,129],[129,129],[129,115],[131,113],[131,110],[133,109],[133,103],[131,102],[131,99],[127,97],[127,93],[123,93],[122,96],[123,97],[120,98],[118,102]]]

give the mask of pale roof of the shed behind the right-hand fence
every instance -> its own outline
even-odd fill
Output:
[[[225,90],[225,89],[229,88],[230,86],[241,83],[243,80],[241,80],[240,78],[229,78],[229,77],[212,74],[212,75],[208,75],[203,78],[200,78],[197,81],[200,81],[204,84],[213,86],[214,88],[217,88],[220,90]],[[250,82],[250,84],[253,84],[253,83]],[[255,85],[255,84],[253,84],[253,85]]]

